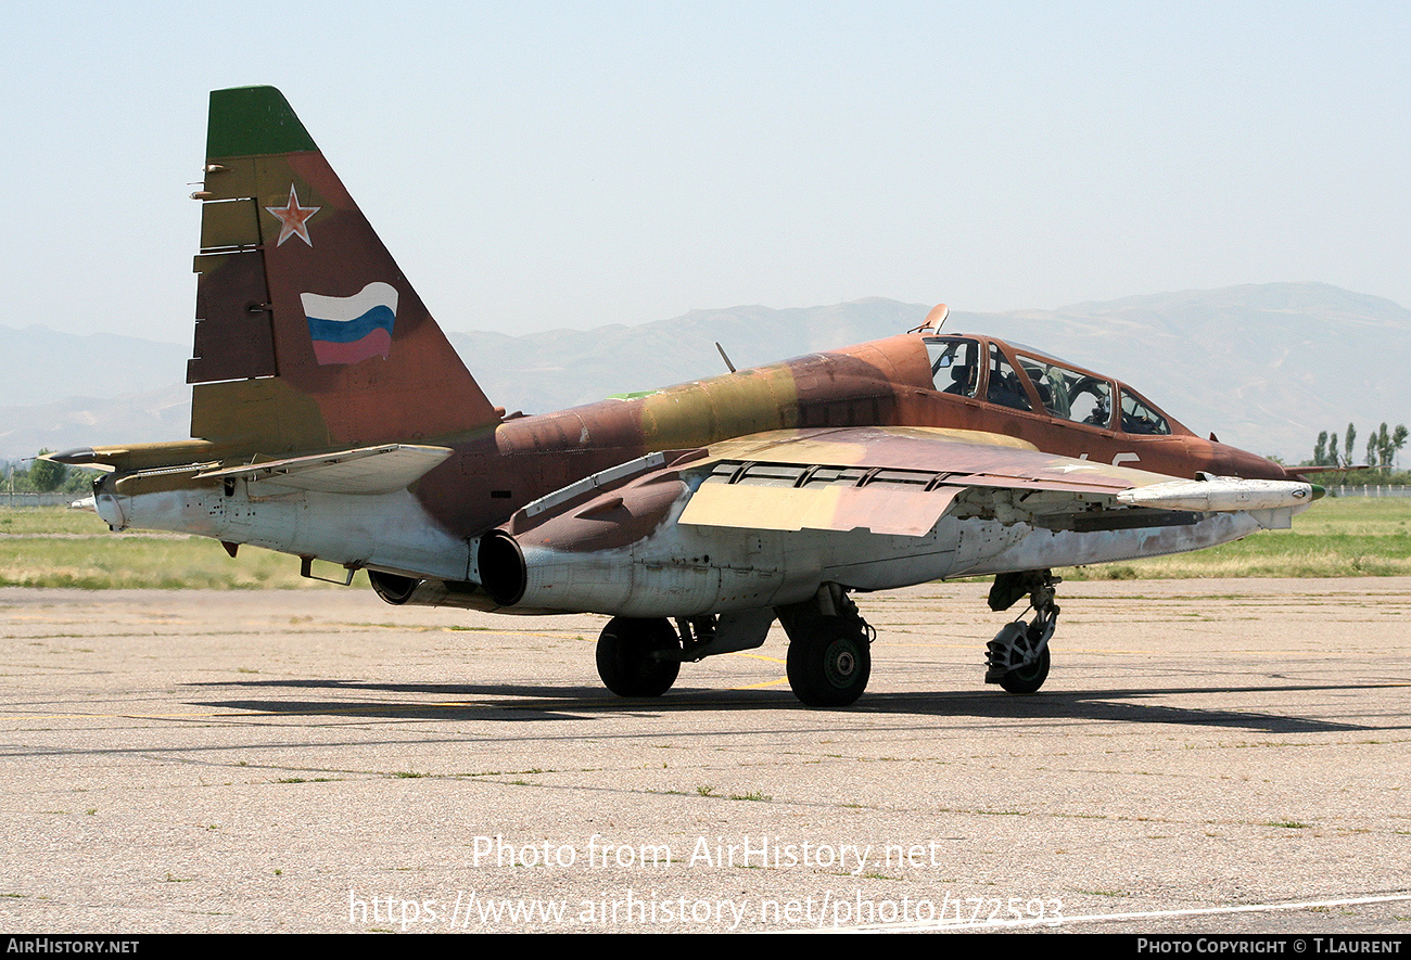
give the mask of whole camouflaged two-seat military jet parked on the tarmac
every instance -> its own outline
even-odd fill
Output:
[[[854,596],[993,575],[1031,622],[985,679],[1048,674],[1055,567],[1287,527],[1321,491],[1204,440],[1126,383],[985,336],[913,331],[523,416],[497,407],[284,96],[216,90],[195,259],[190,438],[54,455],[106,468],[114,529],[365,570],[389,603],[611,619],[624,696],[765,643],[844,706],[875,632]]]

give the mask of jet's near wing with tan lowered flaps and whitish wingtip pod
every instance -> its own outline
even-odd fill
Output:
[[[1178,515],[1307,505],[1308,484],[1177,479],[1040,453],[1002,434],[851,427],[711,447],[717,462],[680,523],[762,530],[869,530],[927,536],[968,491],[1010,522],[1050,529],[1168,526]]]

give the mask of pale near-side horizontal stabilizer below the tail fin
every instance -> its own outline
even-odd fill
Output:
[[[395,493],[450,455],[449,447],[387,444],[212,469],[198,474],[196,479],[244,479],[323,493]]]

